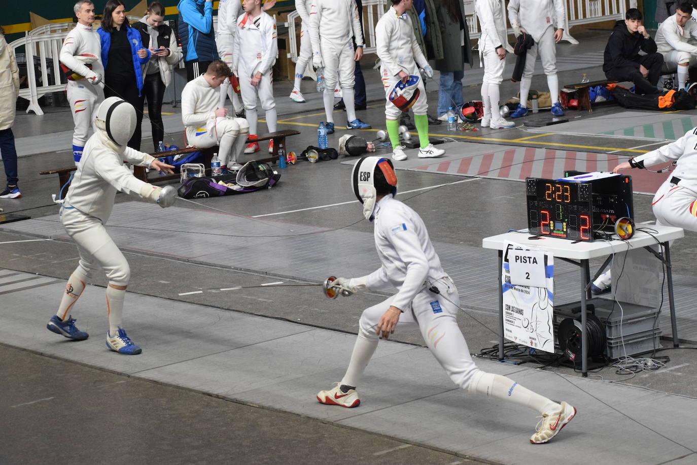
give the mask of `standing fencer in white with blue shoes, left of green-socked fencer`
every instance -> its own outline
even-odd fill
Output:
[[[355,61],[363,56],[363,32],[355,0],[313,0],[309,9],[312,64],[324,68],[324,112],[327,133],[334,132],[334,96],[337,83],[346,106],[346,129],[370,129],[355,116]],[[353,50],[355,40],[357,48]]]

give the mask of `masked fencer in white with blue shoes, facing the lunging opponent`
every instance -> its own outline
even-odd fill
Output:
[[[126,146],[137,124],[135,108],[118,97],[109,97],[98,108],[95,133],[84,147],[82,160],[72,178],[68,194],[61,201],[60,217],[68,236],[75,241],[79,262],[72,272],[58,312],[47,328],[72,340],[85,340],[89,335],[75,326],[70,312],[86,287],[93,271],[102,268],[107,285],[107,347],[118,353],[141,353],[121,328],[123,299],[130,279],[128,261],[107,234],[105,224],[114,207],[117,191],[158,202],[174,204],[176,188],[145,183],[135,178],[123,162],[171,173],[165,165],[147,153]]]

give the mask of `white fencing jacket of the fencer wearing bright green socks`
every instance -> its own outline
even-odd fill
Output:
[[[414,63],[421,68],[429,64],[416,41],[411,19],[406,14],[397,15],[392,6],[376,24],[375,40],[381,66],[388,68],[393,76],[399,71],[413,73]]]

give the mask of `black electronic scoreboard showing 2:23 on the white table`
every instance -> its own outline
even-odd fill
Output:
[[[526,178],[528,231],[572,241],[593,241],[615,222],[634,220],[631,176],[566,171],[562,179]]]

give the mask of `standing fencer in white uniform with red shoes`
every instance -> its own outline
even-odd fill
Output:
[[[245,13],[237,18],[235,47],[233,48],[233,73],[240,79],[242,101],[245,104],[250,139],[256,139],[256,100],[266,112],[268,132],[276,132],[276,100],[273,98],[273,63],[278,56],[276,22],[261,10],[261,0],[245,0]],[[268,143],[273,153],[273,141]],[[250,142],[245,153],[259,151],[259,142]]]

